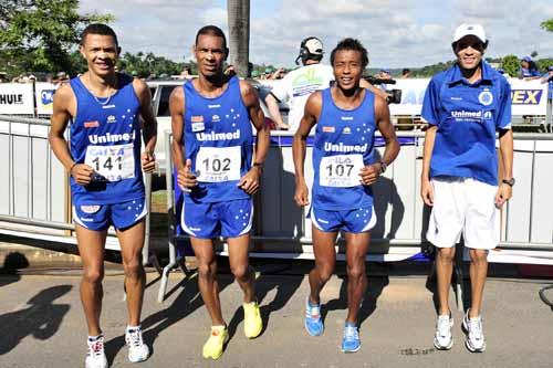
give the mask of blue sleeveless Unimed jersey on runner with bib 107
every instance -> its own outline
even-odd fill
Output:
[[[322,96],[313,144],[313,207],[334,211],[371,207],[373,192],[361,185],[358,175],[373,162],[374,94],[365,90],[354,109],[336,106],[331,88]]]

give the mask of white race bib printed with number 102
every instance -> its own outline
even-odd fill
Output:
[[[240,146],[201,147],[196,156],[196,177],[205,182],[240,180],[241,162]]]

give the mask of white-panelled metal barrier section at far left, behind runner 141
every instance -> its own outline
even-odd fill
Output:
[[[76,244],[73,236],[69,177],[48,141],[50,122],[0,115],[0,155],[8,165],[0,170],[0,233]],[[145,175],[146,198],[152,198],[152,176]],[[106,248],[119,250],[111,230]],[[149,254],[149,212],[146,218],[144,262]]]

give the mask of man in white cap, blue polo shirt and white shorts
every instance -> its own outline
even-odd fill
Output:
[[[482,60],[488,46],[480,24],[461,24],[451,44],[457,63],[432,77],[422,104],[426,132],[421,197],[432,207],[427,239],[437,248],[438,322],[434,345],[453,345],[448,305],[455,245],[461,233],[470,254],[471,306],[462,320],[466,346],[486,349],[480,315],[488,252],[499,242],[499,210],[511,198],[513,136],[511,88]],[[495,132],[502,158],[498,178]]]

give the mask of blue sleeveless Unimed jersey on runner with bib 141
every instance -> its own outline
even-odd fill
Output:
[[[140,104],[133,78],[118,74],[109,98],[95,97],[79,77],[71,80],[76,116],[71,119],[71,156],[94,169],[93,181],[80,186],[71,177],[74,204],[109,204],[144,197],[140,168]]]

